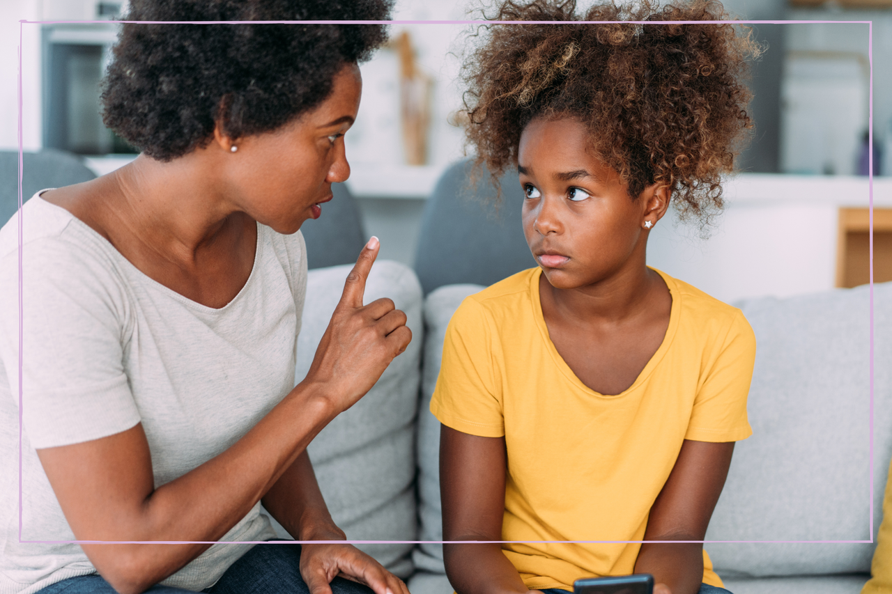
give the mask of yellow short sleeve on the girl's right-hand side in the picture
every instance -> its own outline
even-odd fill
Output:
[[[685,439],[739,441],[753,434],[747,395],[756,362],[756,334],[739,310],[700,382]]]

